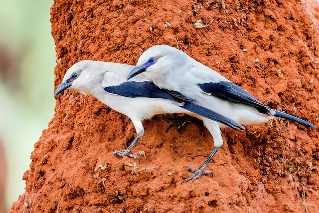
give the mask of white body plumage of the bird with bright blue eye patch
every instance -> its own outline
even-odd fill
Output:
[[[159,60],[144,74],[160,88],[180,92],[240,124],[261,124],[274,118],[259,113],[254,107],[225,101],[203,92],[198,84],[229,80],[174,47],[153,46],[141,55],[137,65],[145,63],[150,57],[159,57]]]

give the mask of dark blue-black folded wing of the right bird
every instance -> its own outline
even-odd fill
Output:
[[[269,108],[258,101],[254,96],[229,81],[220,81],[218,83],[202,83],[198,84],[199,88],[206,93],[221,98],[242,104],[247,104],[255,107],[259,112],[268,114]]]

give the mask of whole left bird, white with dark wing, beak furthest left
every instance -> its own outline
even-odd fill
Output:
[[[124,151],[116,150],[114,155],[139,159],[131,149],[144,134],[143,120],[151,119],[157,114],[185,113],[193,117],[214,120],[233,129],[244,127],[233,120],[208,110],[196,103],[188,102],[182,95],[160,89],[143,76],[126,81],[134,66],[84,60],[71,66],[64,75],[63,81],[56,89],[54,96],[65,89],[71,89],[85,95],[92,95],[110,108],[128,116],[138,136]],[[209,129],[210,127],[207,126]]]

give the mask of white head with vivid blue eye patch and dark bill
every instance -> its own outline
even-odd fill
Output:
[[[153,81],[185,64],[186,53],[167,45],[156,45],[147,49],[140,56],[136,67],[130,72],[127,80],[145,72]]]

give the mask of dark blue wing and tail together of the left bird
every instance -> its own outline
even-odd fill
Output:
[[[183,105],[180,106],[181,108],[186,109],[190,112],[196,113],[213,121],[217,121],[232,129],[245,129],[245,127],[243,127],[242,125],[217,112],[209,110],[196,103],[187,101],[187,99],[178,92],[160,89],[151,81],[127,81],[118,86],[105,87],[104,90],[108,93],[122,95],[130,98],[163,98],[177,101],[179,103],[183,103]]]

